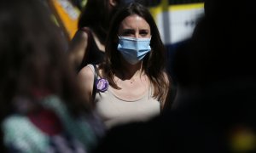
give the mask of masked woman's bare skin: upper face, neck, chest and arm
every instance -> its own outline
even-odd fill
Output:
[[[121,22],[118,35],[122,37],[146,38],[151,37],[151,31],[146,20],[137,14],[133,14]],[[142,61],[136,65],[129,64],[125,59],[122,61],[122,65],[124,66],[123,75],[117,72],[114,76],[114,80],[120,89],[110,89],[120,99],[140,99],[148,92],[149,87],[148,77],[142,71]],[[101,73],[101,70],[99,72]],[[78,77],[84,90],[84,97],[91,100],[94,79],[93,71],[89,66],[85,66],[79,72]]]

